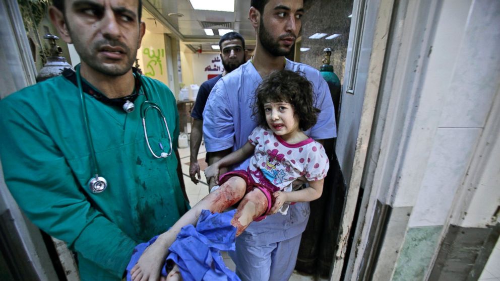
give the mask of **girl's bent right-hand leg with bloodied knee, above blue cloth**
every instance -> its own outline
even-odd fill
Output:
[[[239,203],[236,214],[231,220],[231,225],[236,228],[236,236],[239,236],[251,222],[264,215],[267,205],[267,197],[261,190],[255,188],[248,192]]]

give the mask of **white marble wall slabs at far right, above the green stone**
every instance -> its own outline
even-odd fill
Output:
[[[488,115],[500,85],[498,26],[497,1],[444,2],[431,54],[441,61],[428,69],[422,88],[422,92],[441,97],[432,106],[439,108],[432,111],[438,122],[410,227],[446,224],[479,139],[488,133],[484,130],[487,118],[497,118]],[[420,115],[430,113],[422,108]],[[493,213],[496,205],[482,207]]]

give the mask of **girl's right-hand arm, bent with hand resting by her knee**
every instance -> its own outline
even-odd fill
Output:
[[[274,192],[275,202],[269,211],[269,215],[276,214],[285,202],[310,202],[320,198],[323,193],[325,179],[309,181],[309,187],[297,191]]]

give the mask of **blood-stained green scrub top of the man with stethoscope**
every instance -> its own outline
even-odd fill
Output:
[[[172,92],[142,77],[141,91],[162,108],[177,149],[178,113]],[[150,153],[136,110],[84,94],[99,175],[108,187],[90,191],[93,162],[78,88],[59,76],[0,102],[0,156],[8,188],[28,218],[77,252],[82,280],[120,280],[133,248],[165,232],[186,210],[172,153]],[[162,119],[148,110],[146,125],[157,155],[169,150]]]

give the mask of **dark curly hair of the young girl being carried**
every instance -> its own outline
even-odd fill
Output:
[[[259,125],[269,128],[266,121],[264,104],[268,102],[287,102],[292,105],[299,119],[299,128],[307,130],[316,124],[321,112],[314,106],[313,84],[302,72],[281,70],[266,77],[255,92],[253,115]]]

